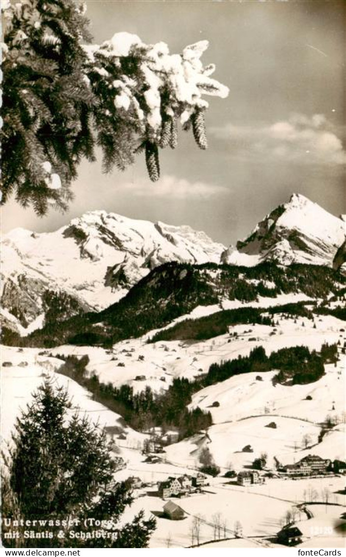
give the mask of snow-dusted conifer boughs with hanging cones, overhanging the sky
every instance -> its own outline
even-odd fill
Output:
[[[13,1],[13,3],[12,3]],[[90,45],[84,5],[75,0],[3,3],[3,203],[11,194],[38,214],[66,209],[82,158],[103,153],[103,169],[125,169],[145,150],[159,179],[159,148],[177,145],[177,120],[206,149],[202,95],[228,95],[202,66],[207,41],[170,55],[116,33]]]

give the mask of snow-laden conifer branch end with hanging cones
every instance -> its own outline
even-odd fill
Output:
[[[112,106],[103,107],[107,116],[117,122],[131,118],[153,181],[160,176],[159,147],[177,144],[177,119],[184,129],[192,127],[196,143],[206,149],[203,113],[209,103],[204,95],[228,96],[228,87],[210,77],[214,64],[202,65],[208,46],[208,41],[199,41],[181,54],[170,54],[165,42],[146,45],[137,35],[121,32],[100,46],[83,47],[91,89],[106,88],[112,99]]]

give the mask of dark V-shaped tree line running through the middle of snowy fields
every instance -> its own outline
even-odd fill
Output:
[[[307,384],[320,379],[324,374],[324,364],[338,359],[337,345],[324,344],[320,353],[307,346],[283,348],[266,355],[263,346],[251,350],[249,356],[238,356],[233,360],[211,364],[207,374],[189,380],[174,378],[167,390],[154,394],[147,385],[135,393],[132,385],[115,387],[112,383],[102,383],[95,373],[90,377],[86,372],[88,356],[61,356],[64,363],[58,373],[67,375],[90,390],[93,398],[107,408],[120,414],[137,431],[147,431],[151,427],[176,428],[179,439],[190,437],[212,425],[210,411],[196,407],[189,410],[192,395],[197,391],[225,381],[234,375],[268,372],[278,369],[273,383]]]

